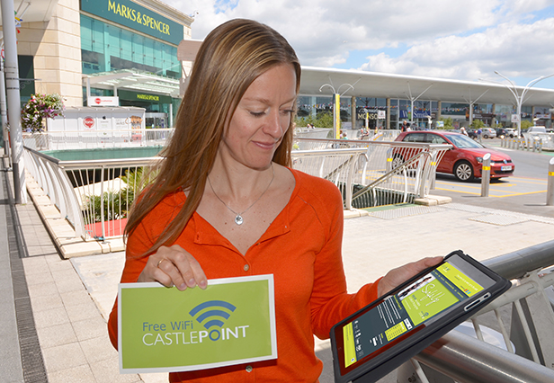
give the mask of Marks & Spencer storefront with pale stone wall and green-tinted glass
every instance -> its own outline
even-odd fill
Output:
[[[67,106],[113,97],[156,114],[154,126],[171,126],[183,76],[177,47],[191,38],[192,17],[158,0],[44,3],[45,22],[34,21],[33,4],[18,28],[20,76],[30,79],[22,102],[32,93],[61,94]]]

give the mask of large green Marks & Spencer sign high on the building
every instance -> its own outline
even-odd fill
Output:
[[[183,40],[183,25],[130,0],[81,0],[81,10],[175,45]]]

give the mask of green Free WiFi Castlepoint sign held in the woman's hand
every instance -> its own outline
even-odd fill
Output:
[[[121,373],[203,370],[277,358],[273,275],[205,290],[121,283]]]

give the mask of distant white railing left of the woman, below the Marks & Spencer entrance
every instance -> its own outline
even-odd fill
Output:
[[[71,130],[23,133],[23,145],[34,150],[97,147],[165,146],[174,129]]]

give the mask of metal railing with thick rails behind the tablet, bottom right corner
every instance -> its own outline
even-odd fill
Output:
[[[459,383],[554,381],[554,311],[545,289],[554,285],[554,241],[531,246],[484,262],[513,280],[513,287],[472,316],[476,339],[452,331],[415,357],[417,381]],[[511,316],[509,315],[511,311]],[[491,319],[494,313],[494,318]],[[488,317],[487,317],[488,316]],[[505,321],[510,321],[510,332]],[[500,334],[504,349],[488,344],[485,327]],[[432,370],[420,368],[420,361]],[[442,375],[437,376],[435,371]],[[398,382],[409,380],[399,370]],[[433,378],[437,379],[434,380]]]

